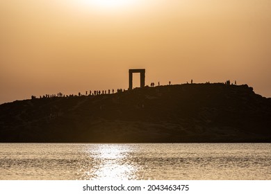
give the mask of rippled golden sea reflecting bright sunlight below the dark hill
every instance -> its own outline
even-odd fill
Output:
[[[0,179],[271,179],[271,143],[0,143]]]

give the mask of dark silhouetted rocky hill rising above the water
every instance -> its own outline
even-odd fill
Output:
[[[271,98],[186,84],[0,105],[0,142],[271,142]]]

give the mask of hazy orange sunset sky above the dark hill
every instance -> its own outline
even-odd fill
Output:
[[[0,1],[0,104],[127,89],[132,68],[147,85],[236,80],[271,97],[271,1]]]

